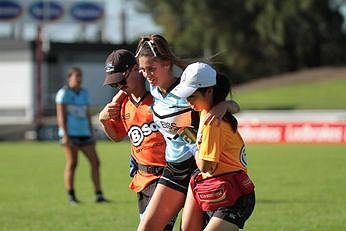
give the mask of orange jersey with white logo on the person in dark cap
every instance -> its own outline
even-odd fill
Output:
[[[149,92],[139,102],[130,96],[126,97],[121,106],[121,121],[132,143],[131,153],[137,163],[165,166],[166,143],[153,121],[150,109],[153,102]],[[129,187],[135,192],[140,192],[157,178],[159,176],[138,170]]]

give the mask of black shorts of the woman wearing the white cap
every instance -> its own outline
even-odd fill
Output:
[[[240,229],[244,228],[245,221],[250,217],[255,208],[255,192],[240,197],[232,207],[223,207],[214,211],[206,212],[207,219],[218,217],[237,225]]]

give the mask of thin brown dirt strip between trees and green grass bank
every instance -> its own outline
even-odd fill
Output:
[[[234,86],[236,91],[346,78],[346,67],[320,67],[261,78]]]

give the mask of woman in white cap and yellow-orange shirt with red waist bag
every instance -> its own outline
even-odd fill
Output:
[[[172,93],[186,98],[190,106],[208,111],[230,92],[226,76],[205,63],[184,70]],[[221,123],[200,123],[195,155],[198,170],[191,178],[182,216],[182,230],[238,230],[244,227],[255,206],[254,184],[247,176],[244,141],[238,122],[229,112]]]

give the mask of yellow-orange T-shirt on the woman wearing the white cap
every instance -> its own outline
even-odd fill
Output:
[[[205,113],[201,114],[201,121]],[[238,130],[232,131],[226,121],[200,124],[197,134],[198,158],[217,163],[213,174],[203,173],[203,178],[227,172],[243,170],[247,172],[245,145]]]

